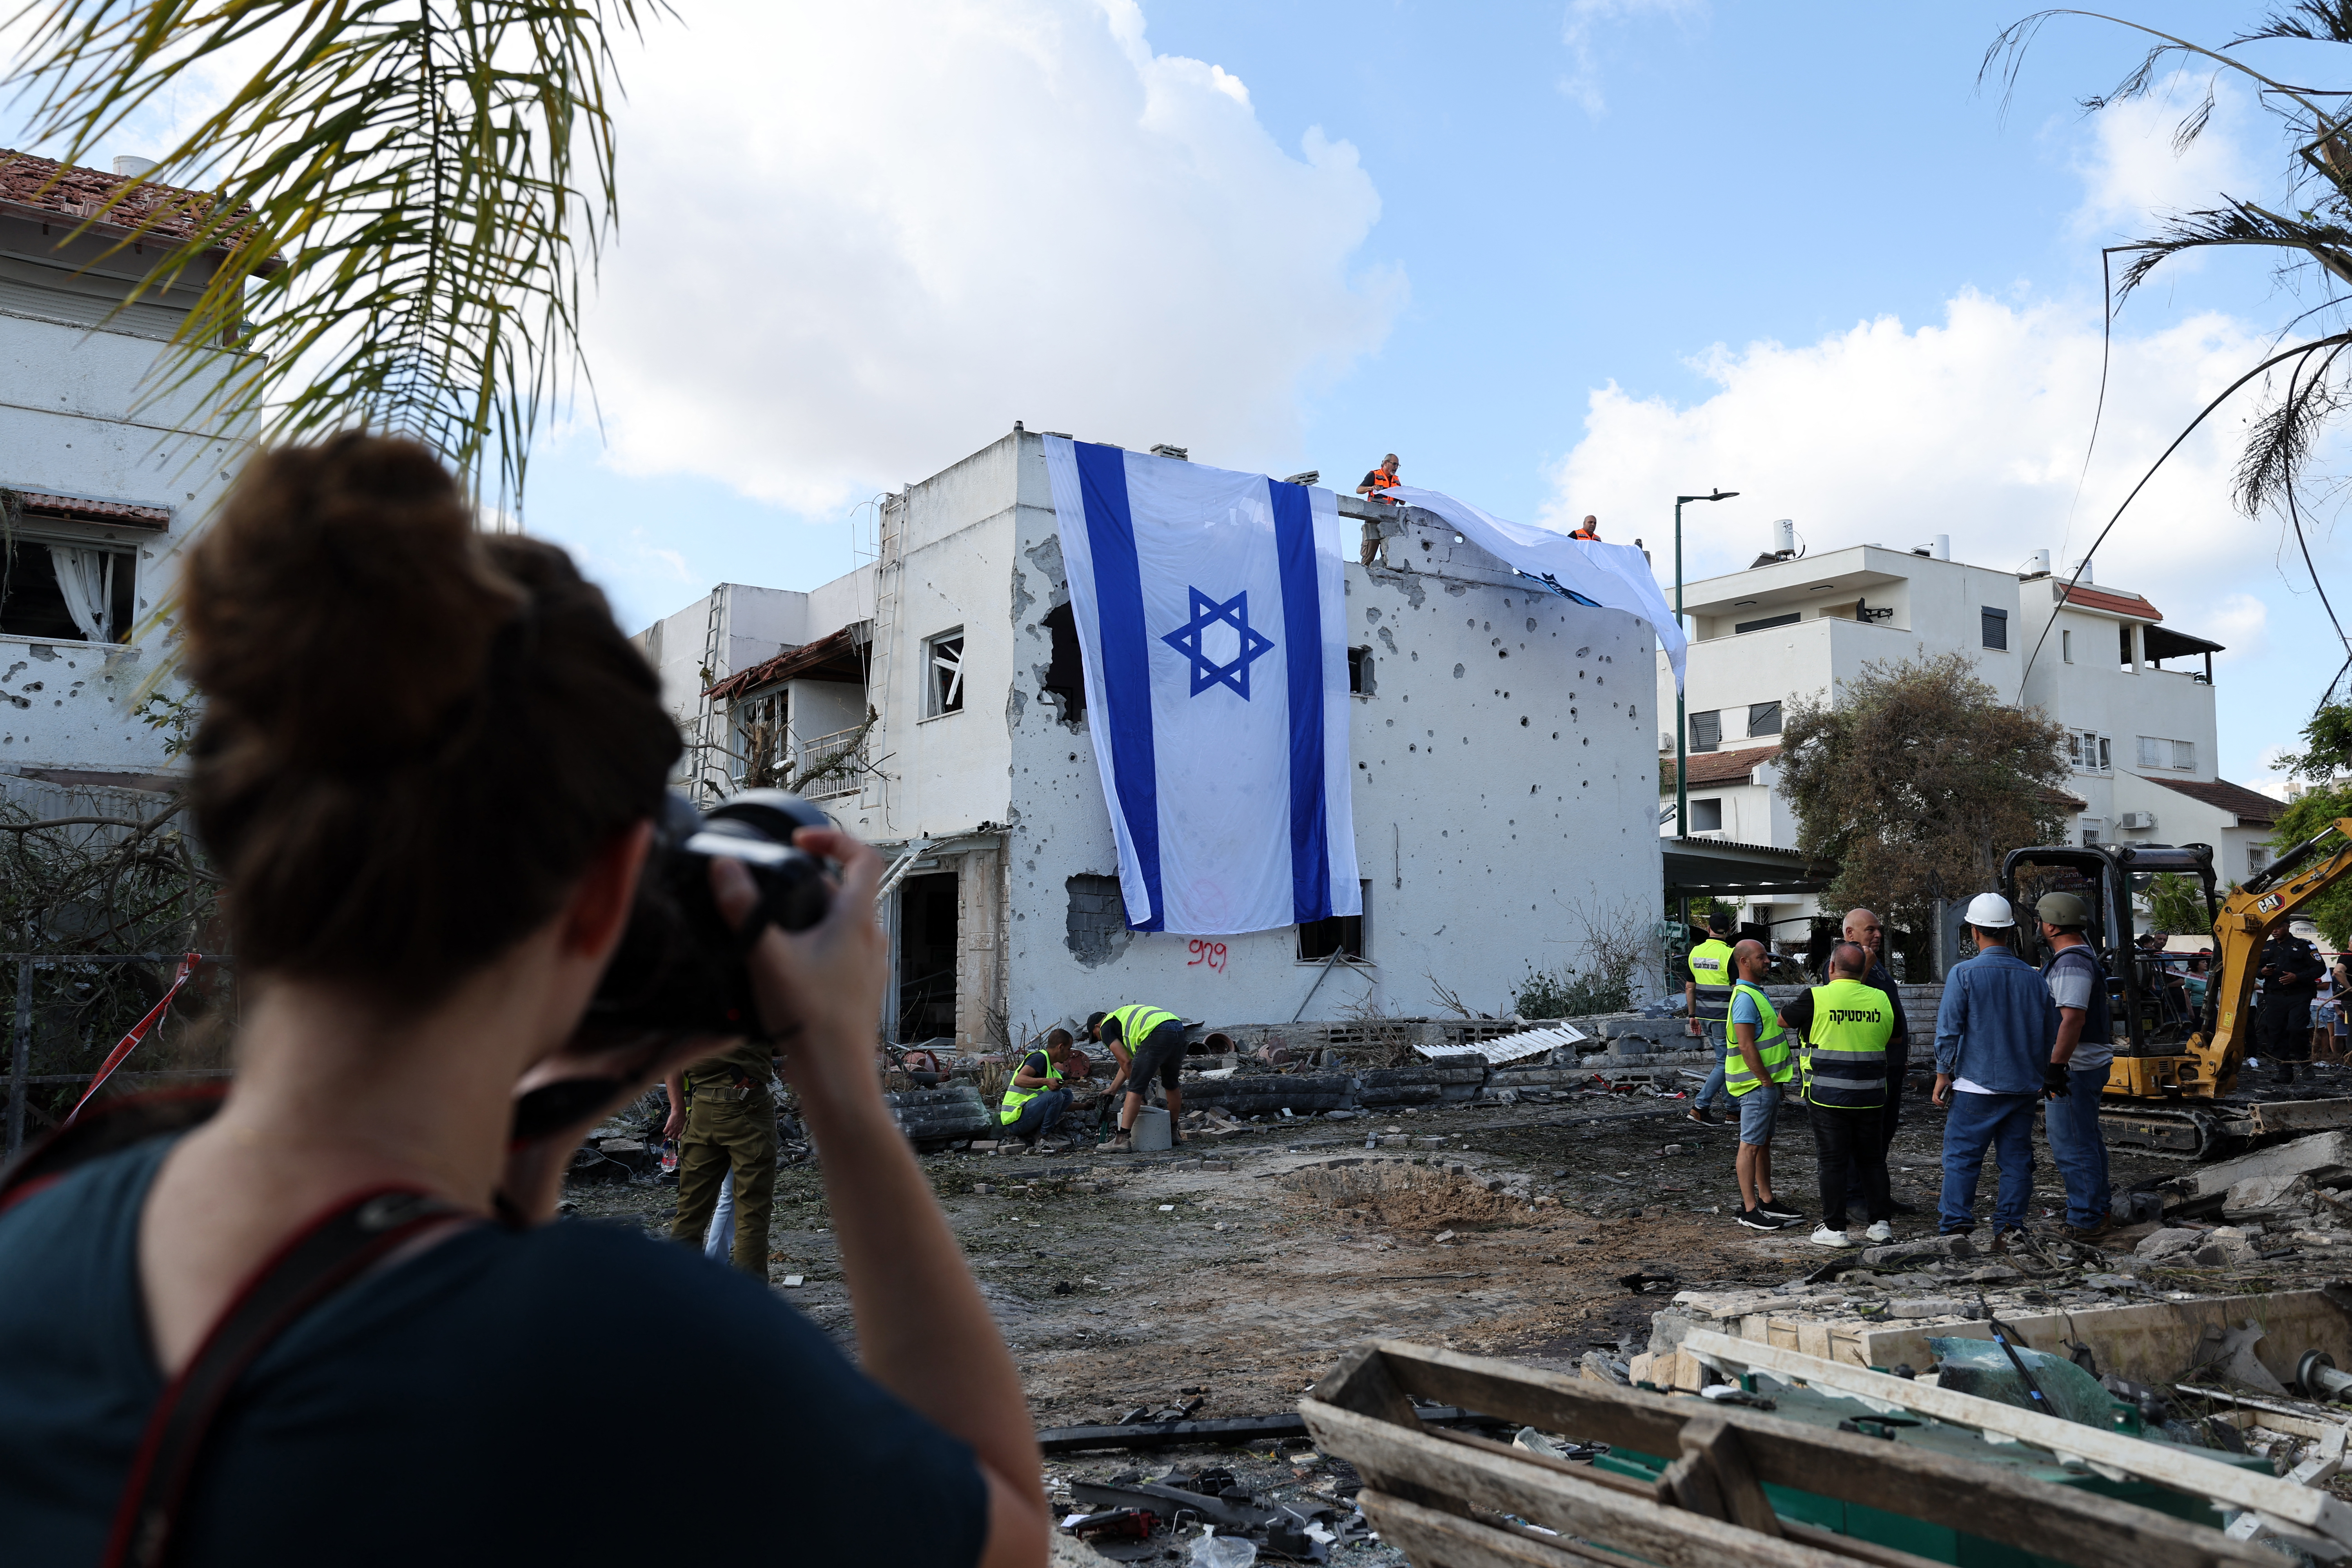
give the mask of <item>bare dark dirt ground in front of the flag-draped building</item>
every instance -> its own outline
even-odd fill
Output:
[[[1896,1218],[1896,1237],[1936,1227],[1940,1133],[1943,1112],[1907,1095],[1891,1171],[1922,1213]],[[1639,1352],[1677,1288],[1771,1286],[1828,1258],[1811,1222],[1736,1225],[1733,1138],[1682,1119],[1677,1100],[1590,1093],[1282,1121],[1169,1154],[929,1154],[924,1168],[1037,1425],[1070,1427],[1192,1399],[1200,1418],[1291,1410],[1343,1349],[1378,1338],[1550,1366]],[[2124,1150],[2112,1164],[2119,1192],[2180,1168]],[[2037,1222],[2056,1227],[2063,1194],[2039,1138],[2034,1185]],[[1795,1110],[1776,1187],[1818,1215]],[[1987,1218],[1990,1187],[1987,1171]],[[583,1218],[663,1234],[675,1208],[675,1185],[647,1180],[569,1197]],[[769,1244],[779,1293],[851,1345],[814,1164],[779,1175]],[[783,1286],[790,1274],[802,1284]],[[1623,1284],[1635,1274],[1653,1279],[1637,1291]]]

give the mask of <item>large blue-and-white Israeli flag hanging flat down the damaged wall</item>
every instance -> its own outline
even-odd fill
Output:
[[[1338,498],[1044,437],[1136,931],[1362,914]]]

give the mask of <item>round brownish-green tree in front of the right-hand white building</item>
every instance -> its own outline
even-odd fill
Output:
[[[2018,710],[1966,654],[1870,663],[1835,701],[1797,701],[1780,783],[1797,846],[1835,863],[1823,907],[1929,931],[1936,898],[1994,886],[2002,856],[2063,842],[2065,731]]]

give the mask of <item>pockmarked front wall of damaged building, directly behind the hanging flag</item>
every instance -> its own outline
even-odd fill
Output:
[[[1301,957],[1298,929],[1127,931],[1087,717],[1049,689],[1054,611],[1070,592],[1044,447],[1035,435],[1000,447],[1016,442],[1011,762],[997,818],[1016,1037],[1124,1001],[1235,1023],[1308,1004],[1305,1018],[1331,1020],[1442,1013],[1444,987],[1508,1011],[1529,969],[1581,961],[1592,929],[1656,924],[1653,635],[1623,611],[1534,592],[1414,515],[1376,564],[1345,571],[1364,961],[1324,973]]]

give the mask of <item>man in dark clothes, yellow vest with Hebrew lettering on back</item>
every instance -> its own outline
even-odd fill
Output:
[[[1886,1197],[1886,1041],[1896,1032],[1893,1004],[1867,983],[1870,952],[1860,943],[1830,947],[1830,983],[1792,1001],[1783,1018],[1804,1030],[1804,1103],[1813,1119],[1820,1166],[1820,1227],[1813,1246],[1853,1246],[1846,1234],[1846,1180],[1860,1175],[1872,1241],[1893,1239]]]

